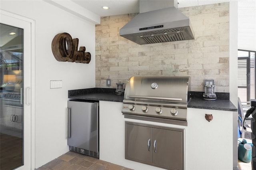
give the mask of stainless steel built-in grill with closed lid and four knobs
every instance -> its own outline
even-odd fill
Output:
[[[124,92],[125,118],[187,126],[190,77],[131,77]]]

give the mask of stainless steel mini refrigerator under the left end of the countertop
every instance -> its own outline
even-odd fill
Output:
[[[69,150],[99,158],[99,103],[70,100],[67,111]]]

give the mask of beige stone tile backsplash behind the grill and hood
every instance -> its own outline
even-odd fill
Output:
[[[216,92],[229,92],[229,3],[179,8],[190,18],[194,40],[138,45],[121,36],[137,14],[101,18],[96,25],[96,87],[126,83],[134,75],[190,76],[191,91],[204,91],[214,79]]]

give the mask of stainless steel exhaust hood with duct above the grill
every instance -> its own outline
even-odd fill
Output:
[[[169,2],[174,3],[173,0],[140,0],[140,13],[119,30],[119,35],[140,45],[194,40],[189,18],[174,5],[166,8]]]

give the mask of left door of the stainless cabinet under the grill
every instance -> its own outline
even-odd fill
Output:
[[[151,127],[126,124],[126,159],[151,163],[151,136]]]

